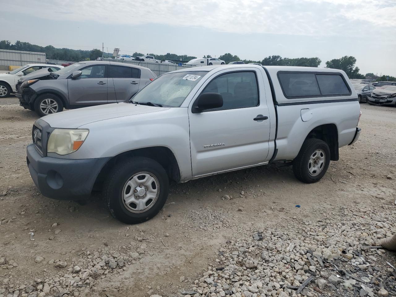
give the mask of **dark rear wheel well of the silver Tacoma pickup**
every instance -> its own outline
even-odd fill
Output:
[[[338,130],[335,124],[325,124],[312,129],[306,139],[322,139],[330,148],[330,160],[338,161]]]

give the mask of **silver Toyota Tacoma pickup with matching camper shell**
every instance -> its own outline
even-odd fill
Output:
[[[27,163],[44,196],[86,200],[100,188],[125,223],[154,217],[169,182],[273,161],[319,181],[358,139],[360,105],[345,72],[225,65],[169,72],[129,103],[38,119]]]

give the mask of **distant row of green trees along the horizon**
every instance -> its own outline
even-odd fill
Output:
[[[96,60],[98,57],[102,56],[102,51],[100,49],[92,50],[82,50],[82,49],[69,49],[69,48],[55,48],[53,46],[38,46],[36,44],[30,44],[29,42],[22,42],[17,40],[15,44],[12,44],[9,40],[0,41],[0,49],[12,49],[18,51],[39,51],[45,52],[47,54],[47,59],[51,60],[61,60],[61,61],[71,61],[78,62],[82,60]],[[144,53],[135,52],[132,57],[143,56]],[[156,55],[154,53],[147,53],[146,55],[154,56],[156,59],[165,61],[183,61],[187,62],[196,57],[189,55],[177,55],[174,53],[166,53],[165,55]],[[103,53],[105,58],[112,57],[112,53]],[[204,55],[204,58],[211,58],[211,55]],[[283,58],[280,55],[272,55],[265,57],[261,61],[253,60],[241,60],[237,55],[232,55],[231,53],[225,53],[221,55],[219,59],[225,61],[226,64],[232,61],[244,61],[247,63],[260,63],[262,65],[270,66],[303,66],[303,67],[319,67],[322,60],[318,57],[312,58]],[[332,59],[326,62],[326,68],[341,69],[346,72],[349,78],[365,78],[366,76],[373,77],[373,73],[367,73],[366,76],[359,73],[359,67],[355,66],[356,58],[352,56],[344,56],[340,59]],[[369,75],[370,74],[370,75]],[[387,80],[395,81],[396,78],[393,76],[383,75],[377,80]]]

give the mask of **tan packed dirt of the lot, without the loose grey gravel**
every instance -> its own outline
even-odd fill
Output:
[[[384,207],[396,207],[396,108],[367,104],[361,108],[360,140],[341,148],[340,160],[330,163],[319,183],[300,183],[282,164],[190,181],[171,187],[166,206],[154,219],[127,226],[109,216],[99,194],[85,206],[40,194],[25,154],[37,116],[20,107],[15,97],[1,99],[0,258],[8,259],[9,265],[0,269],[0,285],[5,278],[4,288],[9,283],[12,291],[40,284],[67,273],[67,267],[51,265],[53,260],[84,266],[89,255],[107,253],[126,259],[125,267],[108,270],[80,294],[176,296],[208,270],[227,240],[258,229],[293,232],[303,222],[337,223],[345,208],[379,213]],[[223,195],[231,199],[224,200]],[[386,219],[394,230],[396,216],[391,213],[393,217]],[[370,226],[369,216],[367,220]],[[52,227],[54,223],[57,226]],[[139,257],[132,259],[131,253]],[[36,256],[44,260],[36,263]],[[384,264],[385,259],[396,263],[394,253],[380,253],[377,260]]]

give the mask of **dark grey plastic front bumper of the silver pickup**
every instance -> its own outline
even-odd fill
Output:
[[[30,175],[41,193],[57,200],[84,200],[109,158],[61,159],[43,157],[33,144],[27,147]]]

